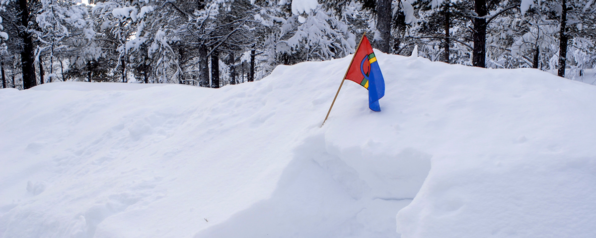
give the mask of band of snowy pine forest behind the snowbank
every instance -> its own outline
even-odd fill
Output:
[[[2,87],[262,79],[380,51],[573,79],[596,65],[594,0],[0,0]],[[586,82],[594,83],[594,82]]]

